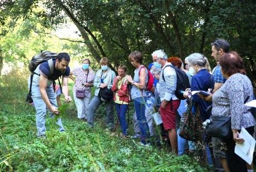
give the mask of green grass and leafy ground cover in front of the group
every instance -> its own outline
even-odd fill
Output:
[[[47,138],[37,139],[35,109],[25,103],[27,77],[13,71],[0,78],[0,171],[209,171],[189,156],[121,139],[120,127],[116,133],[107,131],[104,107],[97,111],[92,129],[77,120],[73,102],[65,105],[66,132],[60,133],[47,115]]]

